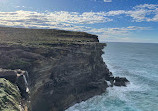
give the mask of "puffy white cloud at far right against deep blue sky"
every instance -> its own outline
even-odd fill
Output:
[[[135,22],[157,22],[158,21],[158,5],[143,4],[133,7],[131,10],[115,10],[106,12],[105,16],[130,16]]]

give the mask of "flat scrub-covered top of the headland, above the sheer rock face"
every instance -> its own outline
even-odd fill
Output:
[[[98,36],[86,32],[65,31],[56,29],[26,29],[0,27],[0,43],[22,45],[50,45],[60,43],[93,43],[99,42]]]

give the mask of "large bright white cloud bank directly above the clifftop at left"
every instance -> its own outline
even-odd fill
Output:
[[[15,11],[0,12],[0,25],[27,28],[58,28],[65,30],[85,31],[85,24],[104,23],[112,21],[103,12],[45,12]]]

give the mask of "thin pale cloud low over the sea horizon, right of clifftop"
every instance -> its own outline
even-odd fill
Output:
[[[131,38],[130,36],[137,31],[151,30],[150,27],[115,27],[115,28],[101,28],[91,29],[91,33],[97,33],[99,35],[100,42],[142,42],[142,39]]]

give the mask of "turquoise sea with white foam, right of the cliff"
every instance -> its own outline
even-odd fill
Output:
[[[158,111],[158,44],[107,43],[103,51],[113,75],[130,84],[108,88],[66,111]]]

